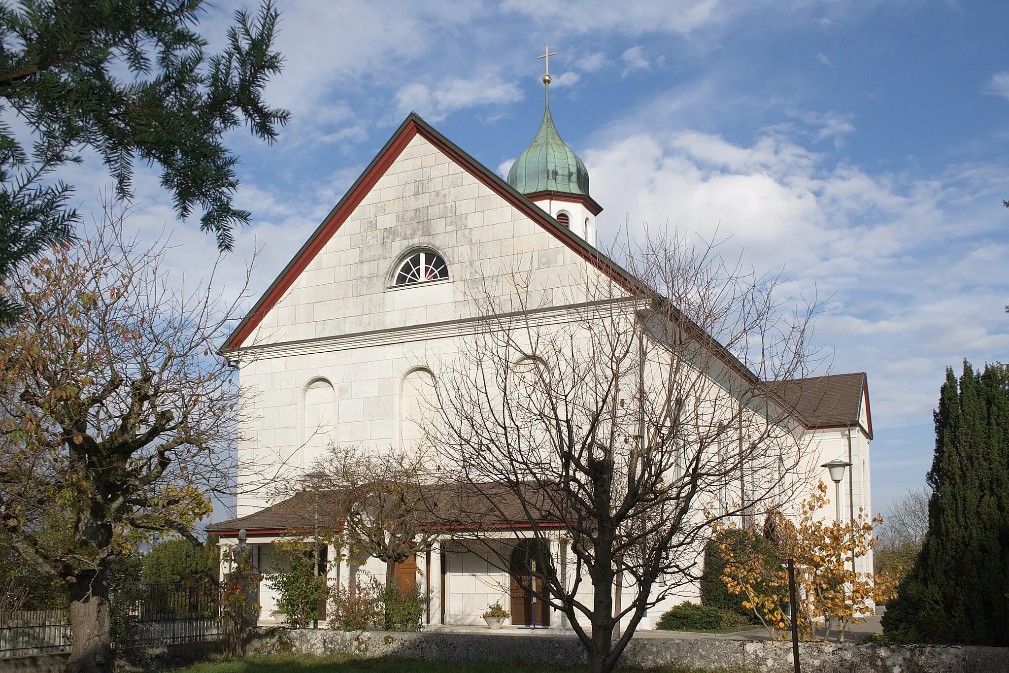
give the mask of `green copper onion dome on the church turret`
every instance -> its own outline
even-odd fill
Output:
[[[588,171],[561,140],[549,104],[536,137],[508,172],[508,184],[521,194],[549,191],[588,196]]]

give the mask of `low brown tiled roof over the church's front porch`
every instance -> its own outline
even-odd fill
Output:
[[[418,486],[417,525],[421,529],[469,529],[528,527],[532,518],[538,524],[557,525],[546,487],[526,486],[525,503],[515,490],[499,483],[457,483]],[[210,535],[234,535],[245,529],[249,535],[309,533],[316,527],[337,528],[340,491],[302,491],[255,514],[211,524]],[[318,513],[318,519],[316,514]]]

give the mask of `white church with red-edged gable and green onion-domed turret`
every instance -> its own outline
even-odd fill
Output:
[[[548,290],[619,268],[596,247],[601,211],[549,102],[507,180],[411,113],[223,346],[245,394],[237,518],[208,533],[225,550],[242,533],[253,565],[269,572],[273,544],[326,517],[327,506],[301,493],[281,507],[268,488],[255,487],[259,480],[281,466],[307,474],[333,447],[382,451],[418,441],[440,362],[485,321],[474,288],[522,267],[549,302]],[[572,310],[570,296],[556,293],[557,315]],[[868,512],[866,375],[784,381],[781,395],[795,402],[815,465],[851,464],[838,488],[844,516]],[[346,584],[362,571],[385,576],[375,559],[348,559],[332,548],[326,554],[336,560],[327,566],[330,582]],[[858,562],[871,569],[871,555]],[[424,596],[426,628],[482,625],[480,614],[494,601],[510,609],[514,627],[569,626],[559,612],[532,614],[528,593],[516,591],[507,572],[457,548],[448,534],[397,567],[396,576]],[[276,598],[265,582],[259,596],[260,624],[272,624]],[[654,628],[682,599],[697,601],[696,587],[656,605],[640,628]]]

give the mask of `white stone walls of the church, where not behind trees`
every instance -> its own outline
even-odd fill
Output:
[[[572,233],[594,245],[595,219],[584,206],[539,205],[551,216],[568,214]],[[399,265],[421,249],[445,259],[448,278],[395,286]],[[422,134],[414,135],[258,324],[238,347],[232,344],[246,395],[237,516],[272,503],[269,489],[259,487],[264,478],[309,471],[331,443],[381,450],[414,441],[426,381],[481,329],[474,297],[521,273],[544,320],[562,320],[584,301],[586,278],[597,272],[569,242]],[[507,295],[499,300],[503,311],[517,308]],[[837,457],[851,456],[854,463],[852,482],[846,479],[843,489],[846,516],[850,504],[856,513],[870,511],[868,409],[862,425],[818,429],[812,436],[811,469],[813,461]],[[264,571],[272,541],[265,534],[249,540]],[[559,545],[555,558],[562,554]],[[331,554],[335,558],[337,550]],[[507,573],[463,553],[444,554],[442,572],[443,554],[438,547],[430,563],[424,555],[418,559],[418,586],[430,596],[425,620],[478,624],[488,603],[499,599],[507,605]],[[859,569],[869,567],[871,557]],[[383,564],[374,559],[364,569],[384,576]],[[330,578],[346,583],[352,572],[342,561]],[[682,599],[696,600],[696,588],[685,587],[657,605],[641,628],[651,628]],[[264,589],[260,602],[268,619],[275,597]],[[551,626],[565,625],[555,614]]]

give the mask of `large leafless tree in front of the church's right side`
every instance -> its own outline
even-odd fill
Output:
[[[570,562],[543,557],[532,590],[566,616],[593,673],[613,668],[650,607],[697,578],[713,521],[790,495],[806,448],[773,381],[807,373],[814,307],[783,311],[777,277],[675,235],[623,257],[630,272],[549,298],[561,312],[533,305],[530,273],[487,288],[476,302],[493,317],[439,372],[431,437],[473,486],[460,492],[496,493],[456,509],[503,522],[488,532],[471,518],[459,538],[472,549],[497,548],[502,534],[567,546]]]

